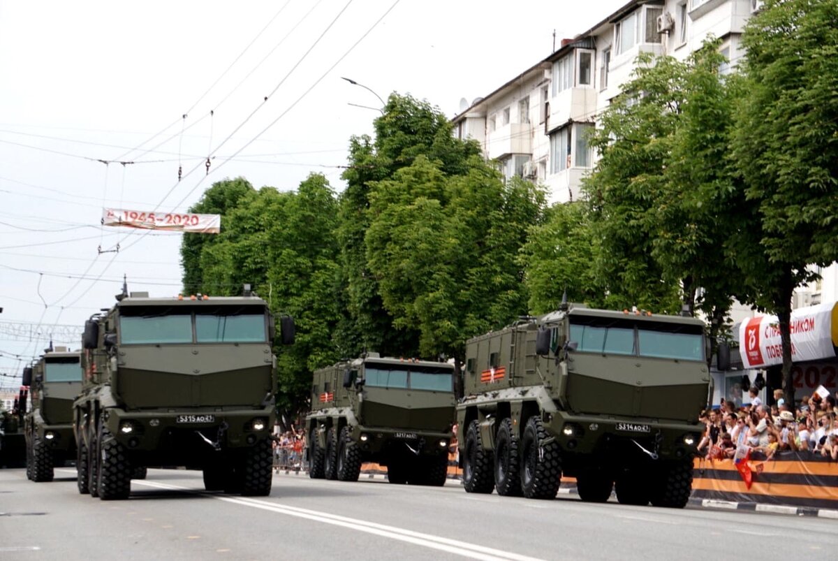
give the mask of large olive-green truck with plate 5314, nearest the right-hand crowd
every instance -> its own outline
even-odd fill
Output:
[[[699,319],[563,304],[467,341],[463,486],[683,507],[711,377]]]

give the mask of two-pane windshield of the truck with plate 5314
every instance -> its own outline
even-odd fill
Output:
[[[571,321],[570,335],[571,340],[577,342],[577,351],[704,360],[704,336],[700,325],[585,317]]]

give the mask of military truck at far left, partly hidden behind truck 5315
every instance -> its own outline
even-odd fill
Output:
[[[26,476],[51,481],[55,465],[75,460],[73,401],[81,391],[80,352],[51,348],[23,369],[32,408],[26,413]]]

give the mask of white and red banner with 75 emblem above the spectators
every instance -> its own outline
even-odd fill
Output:
[[[833,316],[838,319],[838,304],[830,302],[791,313],[791,360],[817,361],[835,357]],[[838,325],[836,325],[838,327]],[[780,326],[776,315],[761,315],[739,326],[739,354],[745,368],[783,364]]]

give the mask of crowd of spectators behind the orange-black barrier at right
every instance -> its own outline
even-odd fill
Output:
[[[736,407],[725,401],[701,413],[706,430],[698,450],[707,460],[733,458],[737,447],[747,446],[766,459],[793,450],[838,460],[838,407],[835,395],[815,393],[799,403],[785,403],[783,390],[773,393],[773,405],[762,403],[758,389],[750,388],[751,403]]]

